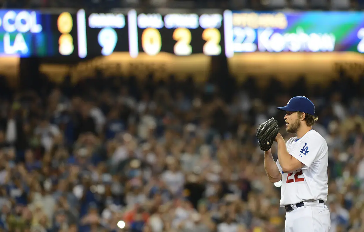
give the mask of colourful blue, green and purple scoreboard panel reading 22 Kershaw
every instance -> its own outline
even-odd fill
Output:
[[[364,52],[363,12],[233,12],[231,18],[232,54]]]

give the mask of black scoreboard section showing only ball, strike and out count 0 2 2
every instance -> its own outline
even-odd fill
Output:
[[[223,47],[221,14],[139,14],[138,51],[148,55],[169,52],[179,56],[220,55]]]

